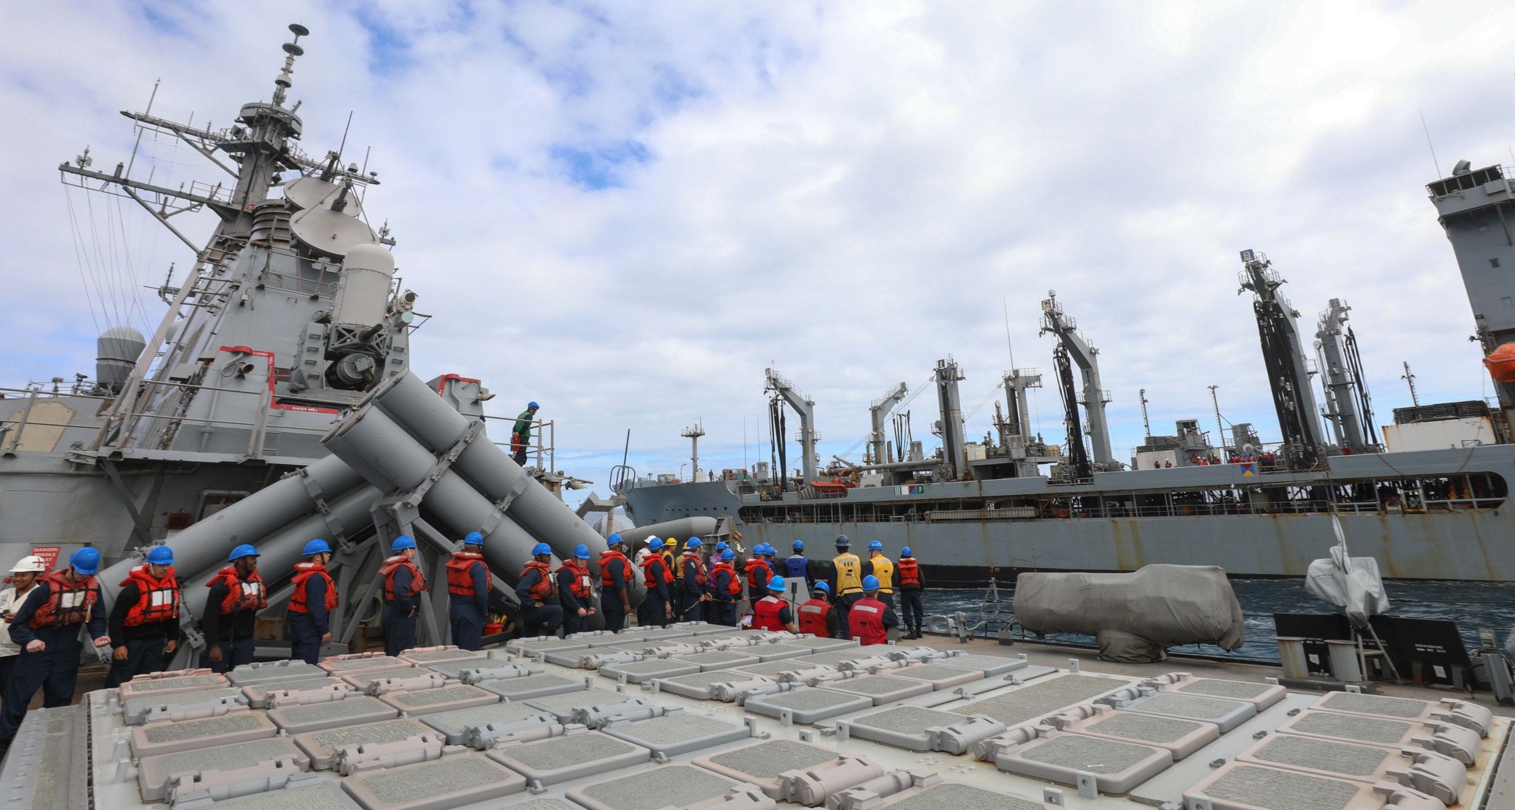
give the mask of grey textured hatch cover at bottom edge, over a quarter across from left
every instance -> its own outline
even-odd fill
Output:
[[[465,754],[342,780],[365,810],[445,810],[526,790],[520,774],[482,755]]]

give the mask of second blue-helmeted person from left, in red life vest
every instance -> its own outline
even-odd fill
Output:
[[[147,563],[133,566],[121,580],[121,592],[111,606],[106,689],[164,668],[164,654],[179,646],[180,601],[174,553],[155,545],[147,551]]]

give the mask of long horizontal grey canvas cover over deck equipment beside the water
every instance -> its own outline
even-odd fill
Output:
[[[1164,648],[1185,643],[1236,650],[1245,640],[1241,604],[1218,566],[1026,572],[1015,581],[1015,618],[1038,633],[1097,636],[1106,660],[1154,660]]]

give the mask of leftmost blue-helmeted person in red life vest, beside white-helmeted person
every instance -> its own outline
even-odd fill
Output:
[[[26,719],[32,695],[42,690],[42,706],[53,709],[74,701],[79,678],[79,625],[94,639],[95,648],[109,646],[105,610],[100,603],[100,551],[80,548],[68,556],[68,568],[53,571],[26,595],[21,609],[11,619],[11,640],[21,653],[11,669],[11,683],[0,706],[0,755],[11,748],[17,728]]]

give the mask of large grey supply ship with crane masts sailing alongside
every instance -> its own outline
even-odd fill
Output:
[[[1041,333],[1056,338],[1060,445],[1032,430],[1027,391],[1042,385],[1033,368],[1001,374],[994,430],[970,441],[957,391],[964,369],[947,357],[929,383],[939,450],[927,454],[909,438],[907,415],[897,412],[909,386],[900,383],[870,407],[862,462],[835,457],[821,469],[814,398],[770,368],[771,460],[712,480],[698,480],[698,469],[691,481],[627,477],[617,491],[638,524],[711,516],[748,542],[788,550],[803,541],[814,556],[827,556],[836,534],[882,541],[891,553],[911,547],[938,584],[1151,563],[1301,577],[1335,544],[1333,518],[1353,553],[1376,557],[1386,577],[1515,580],[1515,513],[1506,504],[1515,474],[1515,276],[1501,269],[1515,266],[1510,179],[1498,165],[1462,160],[1426,188],[1462,271],[1495,401],[1417,400],[1380,431],[1351,307],[1332,298],[1312,338],[1273,262],[1244,250],[1239,286],[1251,294],[1277,442],[1259,441],[1251,424],[1223,433],[1217,415],[1217,433],[1182,419],[1157,436],[1148,422],[1132,457],[1115,459],[1100,354],[1048,294]],[[1406,377],[1413,385],[1407,366]],[[800,422],[792,438],[791,412]],[[1145,391],[1142,413],[1145,421]],[[792,444],[797,465],[785,457]]]

